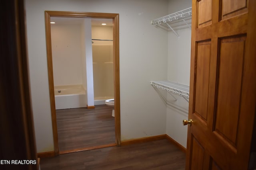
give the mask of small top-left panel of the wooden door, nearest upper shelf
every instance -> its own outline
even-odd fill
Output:
[[[198,25],[197,27],[205,27],[212,23],[212,0],[199,0],[198,6]]]

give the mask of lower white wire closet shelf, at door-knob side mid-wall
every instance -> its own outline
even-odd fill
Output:
[[[188,102],[189,86],[171,81],[150,81],[150,84],[156,89],[166,90],[173,98],[172,94],[182,96]]]

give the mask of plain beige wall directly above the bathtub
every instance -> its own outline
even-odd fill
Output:
[[[81,26],[51,24],[54,86],[82,84]]]

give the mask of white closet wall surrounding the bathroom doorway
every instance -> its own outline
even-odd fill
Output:
[[[166,133],[166,107],[150,80],[167,78],[167,32],[150,20],[168,13],[167,0],[26,0],[30,87],[37,152],[54,150],[44,11],[120,14],[121,139]]]

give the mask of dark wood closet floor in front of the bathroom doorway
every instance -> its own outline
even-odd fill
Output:
[[[185,154],[167,139],[41,158],[41,170],[184,170]]]

